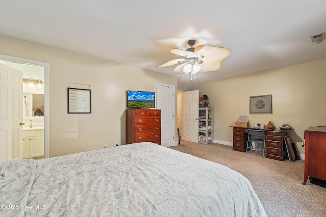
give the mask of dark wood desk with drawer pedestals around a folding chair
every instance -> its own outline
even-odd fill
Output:
[[[279,161],[283,161],[287,157],[287,150],[284,143],[284,136],[291,130],[274,130],[266,128],[254,128],[254,127],[237,127],[233,128],[233,150],[246,152],[247,146],[247,129],[263,130],[267,139],[267,152],[266,158],[271,158]]]

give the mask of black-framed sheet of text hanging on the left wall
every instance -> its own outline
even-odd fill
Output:
[[[67,88],[68,114],[90,114],[91,110],[91,90]]]

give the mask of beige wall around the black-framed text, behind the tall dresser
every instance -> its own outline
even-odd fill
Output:
[[[177,89],[175,77],[63,49],[2,35],[0,47],[2,55],[50,65],[50,157],[125,144],[126,91],[155,91],[155,82]],[[90,85],[92,114],[67,114],[69,82]]]

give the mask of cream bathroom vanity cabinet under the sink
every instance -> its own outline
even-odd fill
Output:
[[[23,130],[23,157],[35,158],[44,156],[44,130]]]

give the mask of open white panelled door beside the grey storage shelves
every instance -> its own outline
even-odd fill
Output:
[[[182,92],[182,140],[198,142],[199,90]]]

